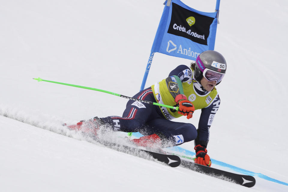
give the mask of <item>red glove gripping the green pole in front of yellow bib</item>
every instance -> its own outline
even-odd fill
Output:
[[[192,118],[195,107],[190,101],[187,100],[187,97],[180,94],[176,96],[175,101],[179,105],[178,113],[187,116],[187,119]]]

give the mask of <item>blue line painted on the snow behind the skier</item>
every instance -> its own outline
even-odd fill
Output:
[[[142,137],[143,135],[140,134],[139,132],[137,132],[137,133],[133,133],[133,136]],[[183,148],[181,148],[179,146],[169,147],[169,149],[171,149],[173,151],[176,151],[176,152],[184,153],[185,155],[190,155],[190,156],[196,155],[194,152],[191,152],[191,151],[189,151],[187,149],[183,149]],[[211,161],[215,165],[219,165],[219,166],[222,166],[222,167],[227,167],[227,168],[229,168],[231,170],[237,171],[238,173],[242,173],[242,174],[250,175],[250,176],[258,176],[258,177],[260,177],[262,179],[265,179],[267,181],[271,181],[271,182],[275,182],[275,183],[279,183],[279,184],[283,184],[283,185],[287,185],[288,186],[288,183],[285,183],[285,182],[279,181],[277,179],[273,179],[271,177],[265,176],[262,173],[254,173],[252,171],[244,170],[244,169],[241,169],[239,167],[235,167],[233,165],[226,164],[226,163],[224,163],[222,161],[217,161],[215,159],[211,159]]]

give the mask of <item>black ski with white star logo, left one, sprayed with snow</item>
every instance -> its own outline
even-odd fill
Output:
[[[104,146],[107,146],[110,149],[114,149],[119,152],[124,152],[148,160],[158,160],[162,163],[169,165],[170,167],[178,167],[181,163],[181,159],[177,155],[162,154],[158,152],[147,151],[144,149],[138,149],[136,147],[126,146],[107,141],[98,141],[98,142]]]

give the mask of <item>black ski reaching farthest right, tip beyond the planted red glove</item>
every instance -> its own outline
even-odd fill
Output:
[[[231,173],[219,169],[215,169],[212,167],[207,167],[204,165],[199,165],[191,161],[181,159],[181,167],[185,167],[187,169],[203,173],[208,176],[216,177],[219,179],[223,179],[225,181],[229,181],[235,184],[242,185],[244,187],[253,187],[256,183],[256,180],[253,176],[249,175],[240,175],[237,173]]]

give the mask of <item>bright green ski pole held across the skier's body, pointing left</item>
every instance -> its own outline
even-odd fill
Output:
[[[109,93],[109,94],[111,94],[111,95],[116,95],[116,96],[119,96],[119,97],[122,97],[122,98],[130,99],[130,100],[133,100],[133,101],[139,101],[139,102],[142,102],[142,103],[147,103],[147,104],[152,104],[152,105],[158,105],[158,106],[161,106],[161,107],[167,107],[167,108],[170,108],[170,109],[174,109],[174,110],[176,110],[176,111],[179,110],[179,107],[173,107],[173,106],[170,106],[170,105],[159,104],[159,103],[155,103],[155,102],[152,102],[152,101],[145,101],[145,100],[141,100],[141,99],[136,99],[136,98],[128,97],[128,96],[125,96],[125,95],[120,95],[120,94],[118,94],[118,93],[113,93],[113,92],[110,92],[110,91],[105,91],[105,90],[102,90],[102,89],[85,87],[85,86],[80,86],[80,85],[73,85],[73,84],[56,82],[56,81],[49,81],[49,80],[41,79],[40,77],[38,77],[38,78],[33,78],[33,79],[37,80],[38,82],[40,82],[40,81],[46,81],[46,82],[50,82],[50,83],[56,83],[56,84],[67,85],[67,86],[72,86],[72,87],[78,87],[78,88],[83,88],[83,89],[90,89],[90,90],[94,90],[94,91],[100,91],[100,92],[104,92],[104,93]]]

